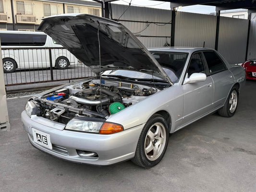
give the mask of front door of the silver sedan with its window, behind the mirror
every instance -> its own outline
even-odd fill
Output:
[[[201,52],[192,55],[187,68],[188,77],[195,72],[207,74]],[[207,76],[204,82],[183,84],[182,87],[184,93],[183,124],[196,120],[212,110],[214,89],[210,76]]]

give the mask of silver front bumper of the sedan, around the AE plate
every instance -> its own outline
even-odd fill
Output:
[[[122,132],[101,135],[86,132],[74,132],[59,130],[54,126],[36,122],[26,114],[21,114],[24,130],[28,133],[29,141],[37,149],[58,158],[98,166],[107,166],[134,157],[140,133],[145,124],[141,124],[132,129]],[[52,123],[54,124],[54,123]],[[32,128],[50,134],[52,149],[37,144],[33,140]],[[98,154],[98,157],[82,157],[77,154],[77,150],[91,151]]]

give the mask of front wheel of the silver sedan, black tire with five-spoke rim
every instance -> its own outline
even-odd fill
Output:
[[[141,167],[151,168],[163,158],[169,140],[169,129],[163,116],[155,114],[145,124],[132,161]]]

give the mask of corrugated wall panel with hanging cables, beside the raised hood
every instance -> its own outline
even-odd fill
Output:
[[[111,8],[112,18],[117,20],[128,6],[111,4]],[[119,22],[138,36],[147,48],[163,47],[166,42],[169,44],[171,42],[171,11],[169,10],[130,6]]]

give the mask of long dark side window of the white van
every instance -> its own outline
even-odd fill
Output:
[[[44,46],[44,34],[10,34],[0,33],[1,46]]]

